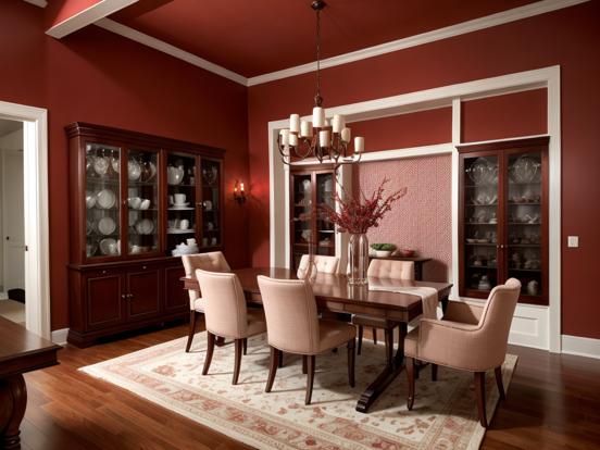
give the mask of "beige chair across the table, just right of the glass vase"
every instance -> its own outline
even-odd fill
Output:
[[[372,260],[366,275],[376,278],[414,279],[414,262]],[[383,328],[385,333],[386,355],[388,361],[391,361],[393,353],[393,329],[398,326],[398,323],[361,314],[353,315],[352,323],[359,327],[359,354],[361,354],[362,350],[363,328],[365,326],[372,327],[373,342],[375,343],[377,343],[377,328]]]

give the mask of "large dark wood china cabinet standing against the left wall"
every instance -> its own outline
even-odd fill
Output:
[[[84,123],[66,134],[68,341],[187,316],[180,255],[223,248],[224,151]]]

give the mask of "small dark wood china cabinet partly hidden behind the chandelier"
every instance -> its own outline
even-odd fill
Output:
[[[293,167],[290,171],[290,267],[298,268],[302,254],[335,255],[335,227],[320,213],[318,205],[334,204],[335,171]]]

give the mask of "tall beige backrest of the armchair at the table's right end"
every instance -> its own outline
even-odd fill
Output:
[[[479,327],[485,340],[486,352],[495,363],[504,361],[511,323],[521,293],[521,282],[509,278],[503,285],[489,292],[488,300],[479,317]]]

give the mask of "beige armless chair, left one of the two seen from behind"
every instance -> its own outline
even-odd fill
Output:
[[[202,375],[209,373],[216,336],[235,340],[235,366],[233,384],[237,385],[241,353],[246,339],[266,332],[262,310],[247,310],[246,297],[236,274],[196,270],[202,287],[208,346]]]

